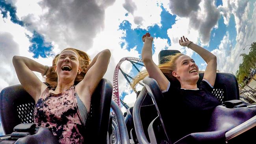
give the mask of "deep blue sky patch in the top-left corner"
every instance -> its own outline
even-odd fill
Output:
[[[24,26],[24,23],[19,20],[16,15],[16,8],[11,6],[11,4],[6,4],[4,0],[0,0],[0,11],[3,15],[3,18],[7,18],[7,12],[10,13],[11,21],[15,24],[19,24],[20,26]]]

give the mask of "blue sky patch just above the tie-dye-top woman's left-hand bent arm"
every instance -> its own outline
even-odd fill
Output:
[[[50,42],[45,42],[42,35],[34,31],[32,37],[29,37],[28,35],[27,37],[32,43],[29,47],[29,52],[34,54],[33,58],[38,58],[39,56],[43,58],[46,58],[47,56],[54,56],[54,53],[52,52],[52,44]]]

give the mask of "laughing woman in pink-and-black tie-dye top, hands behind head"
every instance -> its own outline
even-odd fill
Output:
[[[14,56],[19,81],[36,103],[35,124],[52,131],[61,144],[82,144],[91,96],[108,68],[110,55],[109,50],[103,50],[89,64],[85,52],[66,48],[56,55],[50,67]],[[32,71],[47,76],[50,86]]]

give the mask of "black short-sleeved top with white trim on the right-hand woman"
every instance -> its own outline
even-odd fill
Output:
[[[181,89],[171,83],[169,89],[163,91],[166,113],[168,116],[172,142],[195,132],[206,130],[213,109],[219,101],[211,91],[213,87],[202,80],[198,89]]]

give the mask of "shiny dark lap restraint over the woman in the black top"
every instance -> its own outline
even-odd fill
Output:
[[[181,138],[174,144],[225,144],[225,133],[239,124],[249,120],[253,116],[255,116],[255,113],[248,107],[228,109],[219,105],[211,114],[211,119],[206,132],[191,133]]]

